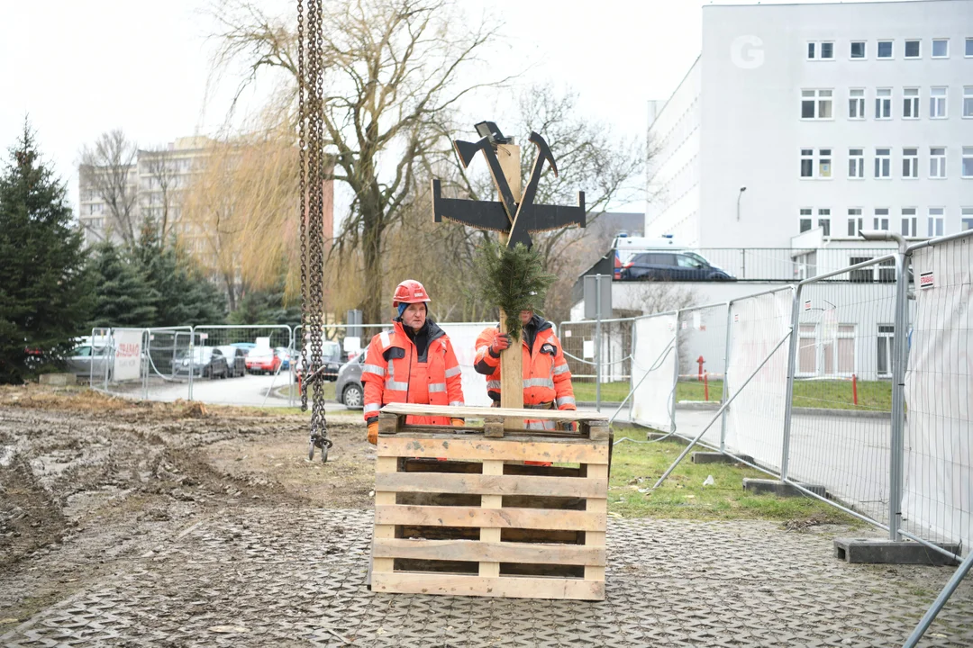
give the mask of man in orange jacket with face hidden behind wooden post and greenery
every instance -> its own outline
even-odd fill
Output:
[[[564,359],[554,326],[533,311],[521,312],[523,350],[523,406],[528,409],[575,410],[571,371]],[[510,347],[510,335],[490,326],[477,337],[473,367],[486,375],[486,393],[500,404],[500,352]],[[527,421],[527,429],[556,429],[552,421]]]

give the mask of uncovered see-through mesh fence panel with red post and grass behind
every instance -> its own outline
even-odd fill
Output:
[[[798,289],[786,476],[887,524],[895,285],[849,281],[881,258]]]

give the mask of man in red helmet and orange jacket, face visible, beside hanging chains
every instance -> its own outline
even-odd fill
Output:
[[[450,338],[428,318],[429,295],[422,284],[407,279],[395,289],[392,306],[399,317],[392,331],[372,338],[362,384],[369,443],[378,443],[378,410],[387,403],[463,404],[459,363]],[[406,423],[426,426],[464,426],[463,419],[410,416]]]

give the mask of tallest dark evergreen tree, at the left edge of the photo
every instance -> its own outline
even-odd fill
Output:
[[[0,383],[56,363],[85,332],[91,284],[67,188],[23,135],[0,174]]]

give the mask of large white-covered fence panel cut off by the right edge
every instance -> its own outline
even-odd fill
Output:
[[[973,237],[913,255],[902,528],[973,544]]]

